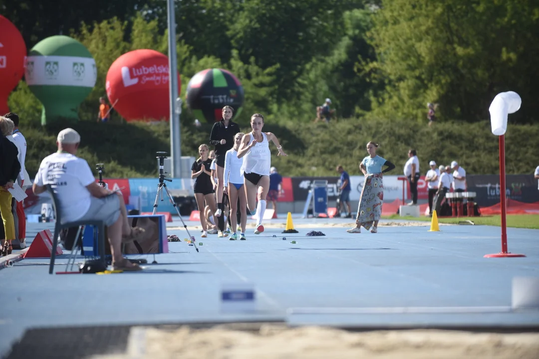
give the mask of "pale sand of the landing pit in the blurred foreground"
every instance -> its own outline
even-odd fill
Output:
[[[134,330],[135,329],[135,330]],[[323,327],[263,325],[255,332],[211,329],[132,328],[126,354],[108,359],[537,359],[539,334],[444,330],[347,332]]]

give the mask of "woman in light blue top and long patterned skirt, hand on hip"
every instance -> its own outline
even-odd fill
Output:
[[[377,143],[369,142],[367,144],[369,156],[361,161],[360,168],[365,175],[365,181],[361,191],[360,205],[357,208],[356,227],[348,229],[348,233],[361,233],[361,226],[367,230],[370,229],[371,233],[378,231],[378,221],[382,216],[382,204],[384,203],[383,173],[393,170],[395,165],[378,156],[376,154],[377,148]],[[387,166],[387,168],[382,171],[383,166]]]

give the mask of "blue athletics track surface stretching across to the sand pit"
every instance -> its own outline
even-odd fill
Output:
[[[328,222],[341,226],[317,227]],[[350,223],[294,219],[299,234],[267,228],[257,236],[249,228],[247,241],[209,235],[198,240],[199,253],[185,242],[172,242],[175,253],[156,256],[158,264],[144,265],[139,273],[50,275],[48,259],[24,259],[0,270],[0,355],[26,328],[64,325],[243,320],[359,327],[539,325],[539,311],[510,309],[512,279],[539,277],[539,231],[508,229],[509,250],[526,258],[489,259],[483,255],[500,251],[496,227],[442,226],[432,233],[425,223],[348,234]],[[186,224],[199,238],[192,227],[198,223]],[[178,219],[168,223],[179,225]],[[29,224],[28,237],[46,226],[52,227]],[[310,230],[326,236],[305,236]],[[183,229],[168,234],[188,237]],[[66,262],[60,256],[56,271],[64,271]],[[225,283],[252,283],[256,311],[222,313]]]

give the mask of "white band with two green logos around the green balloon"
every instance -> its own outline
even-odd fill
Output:
[[[26,60],[25,79],[29,86],[94,87],[97,75],[92,58],[30,56]]]

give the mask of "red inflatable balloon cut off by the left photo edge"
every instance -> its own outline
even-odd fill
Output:
[[[20,31],[0,15],[0,115],[9,112],[8,97],[24,75],[26,44]]]

